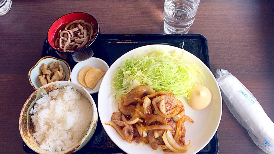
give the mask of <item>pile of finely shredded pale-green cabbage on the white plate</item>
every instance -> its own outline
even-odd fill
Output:
[[[112,82],[116,100],[139,85],[188,97],[197,76],[201,80],[199,68],[185,60],[183,52],[166,52],[160,48],[148,52],[148,55],[127,58],[118,67]]]

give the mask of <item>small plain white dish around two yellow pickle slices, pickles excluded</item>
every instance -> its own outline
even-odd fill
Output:
[[[82,68],[84,68],[86,66],[92,66],[92,67],[95,67],[95,68],[99,68],[99,69],[101,69],[105,72],[109,69],[108,64],[106,64],[106,62],[104,62],[104,60],[99,59],[99,58],[95,58],[95,57],[91,57],[88,60],[78,62],[74,66],[74,68],[72,69],[72,72],[71,72],[71,81],[72,82],[80,84],[79,79],[78,79],[78,75],[79,75],[80,70],[82,70]],[[98,92],[103,78],[104,77],[102,77],[100,79],[100,81],[97,83],[97,85],[95,86],[94,89],[90,89],[90,88],[87,87],[86,90],[90,94]],[[80,85],[82,85],[82,84],[80,84]]]

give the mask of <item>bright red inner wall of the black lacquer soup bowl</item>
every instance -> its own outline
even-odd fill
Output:
[[[51,47],[55,48],[54,42],[58,38],[57,35],[59,33],[59,29],[63,31],[65,30],[65,27],[67,24],[69,24],[70,22],[74,20],[80,20],[80,19],[86,22],[92,23],[94,27],[96,28],[96,30],[98,31],[98,23],[92,15],[89,15],[87,13],[82,13],[82,12],[75,12],[75,13],[64,15],[60,17],[59,19],[57,19],[49,28],[48,40]]]

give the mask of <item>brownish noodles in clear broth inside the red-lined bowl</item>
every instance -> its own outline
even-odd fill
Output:
[[[59,51],[73,52],[88,46],[96,37],[98,31],[84,20],[75,20],[66,25],[65,30],[59,30],[55,47]]]

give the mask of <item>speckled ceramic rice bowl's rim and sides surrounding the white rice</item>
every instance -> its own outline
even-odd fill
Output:
[[[92,119],[91,119],[91,122],[90,122],[90,126],[88,128],[88,131],[86,132],[86,134],[84,135],[84,137],[76,145],[74,145],[73,147],[69,148],[66,151],[50,152],[50,151],[46,151],[44,149],[41,149],[38,146],[39,144],[37,143],[37,141],[35,141],[34,139],[32,139],[30,137],[29,128],[28,128],[28,126],[26,126],[27,125],[27,121],[22,121],[22,120],[25,120],[25,119],[23,119],[23,117],[26,117],[26,115],[24,114],[24,112],[27,112],[28,109],[29,109],[29,107],[27,108],[26,106],[29,105],[29,104],[31,104],[30,101],[31,101],[31,99],[33,99],[33,97],[36,97],[37,92],[39,92],[40,90],[44,89],[45,91],[47,91],[47,94],[49,94],[49,92],[51,92],[52,90],[60,88],[58,86],[61,86],[61,87],[72,86],[72,88],[75,88],[84,97],[86,97],[88,99],[88,101],[91,103],[91,107],[92,107]],[[77,88],[77,86],[78,86],[78,88]],[[51,88],[54,88],[54,89],[51,89]],[[79,88],[81,90],[78,90]],[[33,106],[34,106],[34,104],[33,104]],[[31,108],[33,108],[33,106]],[[31,118],[29,118],[29,120],[30,119]],[[76,84],[74,82],[70,82],[70,81],[56,81],[56,82],[51,82],[51,83],[48,83],[48,84],[46,84],[44,86],[41,86],[40,88],[38,88],[37,90],[35,90],[29,96],[29,98],[25,101],[25,103],[24,103],[24,105],[22,107],[21,113],[20,113],[20,117],[19,117],[19,131],[20,131],[20,135],[21,135],[23,141],[26,143],[26,145],[30,149],[32,149],[33,151],[35,151],[37,153],[45,153],[45,154],[49,154],[49,153],[50,154],[74,153],[74,152],[78,151],[79,149],[81,149],[82,147],[84,147],[84,145],[86,145],[86,143],[91,139],[91,137],[94,134],[94,131],[96,129],[97,121],[98,121],[98,111],[97,111],[96,104],[95,104],[92,96],[88,93],[88,91],[84,87],[82,87],[81,85]],[[27,131],[28,131],[27,132],[27,137],[23,134],[23,130],[22,130],[23,128],[22,127],[27,127]],[[36,142],[37,145],[32,144],[30,141],[28,141],[27,138],[33,140],[33,142]]]

